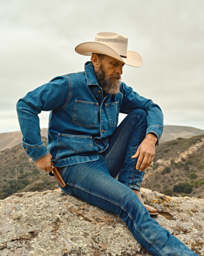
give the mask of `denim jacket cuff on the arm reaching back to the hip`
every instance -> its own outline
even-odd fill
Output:
[[[22,142],[22,146],[26,154],[30,156],[33,162],[49,154],[49,151],[46,148],[46,146],[43,144],[43,141],[35,145],[29,145],[29,144],[26,144],[25,142]]]

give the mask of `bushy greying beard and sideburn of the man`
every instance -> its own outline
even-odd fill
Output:
[[[110,76],[105,75],[105,70],[103,64],[101,63],[98,72],[96,72],[96,78],[99,86],[103,89],[103,91],[107,94],[116,95],[120,91],[120,74],[112,74]],[[116,78],[116,79],[114,79]]]

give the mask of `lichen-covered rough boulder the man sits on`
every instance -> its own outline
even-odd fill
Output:
[[[204,255],[204,200],[141,189],[161,213],[153,218],[189,248]],[[0,200],[1,256],[111,256],[150,254],[116,214],[61,190],[14,194]]]

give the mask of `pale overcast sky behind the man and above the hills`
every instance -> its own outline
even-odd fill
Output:
[[[1,0],[0,133],[20,130],[19,98],[84,70],[90,57],[74,49],[101,31],[126,35],[140,53],[143,66],[125,65],[122,81],[161,107],[164,125],[204,130],[203,0]],[[39,117],[47,127],[48,113]]]

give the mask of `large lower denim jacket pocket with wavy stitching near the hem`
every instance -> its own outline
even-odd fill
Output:
[[[92,151],[92,137],[71,134],[58,134],[56,159],[63,159],[68,155]]]

